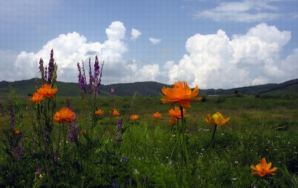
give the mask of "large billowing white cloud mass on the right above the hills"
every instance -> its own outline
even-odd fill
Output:
[[[298,50],[286,60],[280,59],[281,49],[290,39],[290,31],[280,31],[266,23],[231,39],[221,29],[216,34],[195,34],[185,44],[190,55],[184,55],[175,65],[167,62],[164,69],[171,67],[169,83],[185,80],[202,89],[287,81],[297,78],[298,69]]]

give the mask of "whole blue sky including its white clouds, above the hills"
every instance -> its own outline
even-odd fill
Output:
[[[298,78],[298,0],[1,0],[0,81],[105,62],[101,84],[232,89]]]

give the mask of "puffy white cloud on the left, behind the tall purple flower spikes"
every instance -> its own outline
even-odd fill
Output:
[[[122,22],[112,22],[106,29],[107,40],[103,43],[88,42],[86,37],[77,32],[61,34],[48,41],[37,53],[22,51],[18,54],[12,67],[0,74],[0,80],[15,81],[40,77],[38,62],[42,58],[44,65],[47,65],[53,48],[54,59],[58,65],[57,79],[59,81],[77,82],[77,62],[83,60],[86,71],[88,71],[88,59],[91,58],[93,64],[97,55],[99,62],[106,62],[103,75],[110,74],[106,77],[105,83],[119,83],[121,77],[125,75],[122,56],[128,51],[124,41],[125,31],[126,28]],[[136,65],[132,64],[130,67],[131,69],[127,71],[135,71]]]

